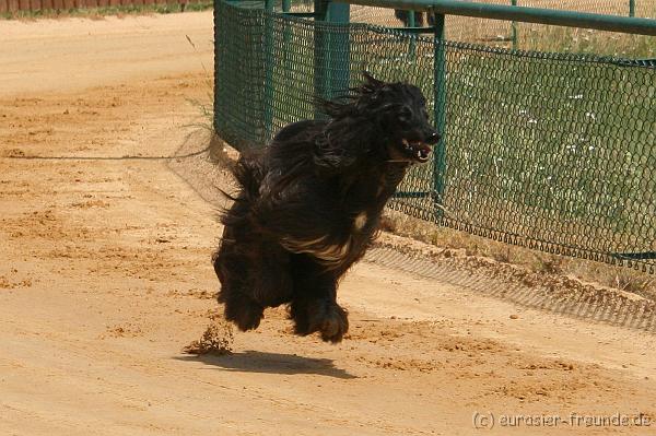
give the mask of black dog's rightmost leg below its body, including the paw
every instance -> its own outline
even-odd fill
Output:
[[[337,304],[337,276],[307,256],[295,258],[294,296],[290,315],[294,332],[318,331],[324,341],[340,342],[349,330],[347,311]]]

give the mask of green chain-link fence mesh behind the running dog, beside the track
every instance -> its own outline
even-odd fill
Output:
[[[353,86],[363,70],[418,85],[430,113],[444,85],[445,164],[413,168],[393,209],[654,272],[656,68],[315,23],[261,5],[215,4],[215,129],[229,143],[262,146],[284,125],[315,117],[317,86]],[[315,64],[326,69],[318,81]]]

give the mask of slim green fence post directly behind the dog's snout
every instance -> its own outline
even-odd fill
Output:
[[[435,17],[435,55],[433,58],[434,69],[434,90],[435,90],[435,128],[442,135],[440,142],[435,145],[433,161],[433,189],[435,192],[434,201],[436,203],[435,214],[437,219],[443,215],[442,204],[444,203],[444,178],[446,176],[446,54],[444,46],[444,14],[436,13]]]

